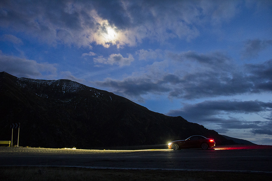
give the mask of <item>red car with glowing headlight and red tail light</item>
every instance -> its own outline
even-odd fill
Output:
[[[177,140],[168,143],[168,149],[180,150],[182,148],[202,148],[206,150],[215,146],[214,139],[205,138],[204,136],[194,135],[186,140]]]

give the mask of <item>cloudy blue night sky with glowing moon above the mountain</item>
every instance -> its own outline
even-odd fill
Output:
[[[0,71],[272,145],[272,1],[0,1]]]

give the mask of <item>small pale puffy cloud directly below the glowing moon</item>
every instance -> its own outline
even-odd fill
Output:
[[[119,53],[119,54],[111,54],[107,59],[105,59],[102,56],[99,56],[97,58],[93,58],[93,60],[96,63],[103,63],[103,64],[109,64],[109,65],[117,64],[120,67],[123,67],[125,65],[130,65],[131,62],[134,61],[134,58],[133,58],[133,56],[131,54],[128,54],[128,58],[124,58]]]

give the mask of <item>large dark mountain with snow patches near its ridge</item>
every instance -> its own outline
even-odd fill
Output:
[[[124,97],[70,80],[34,80],[0,72],[0,139],[19,146],[104,148],[167,144],[191,135],[234,144],[214,130],[148,110]],[[13,142],[17,129],[13,130]]]

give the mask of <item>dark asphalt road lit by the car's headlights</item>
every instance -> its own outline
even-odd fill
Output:
[[[0,166],[15,165],[272,173],[272,146],[267,149],[225,150],[218,147],[179,151],[0,147]]]

